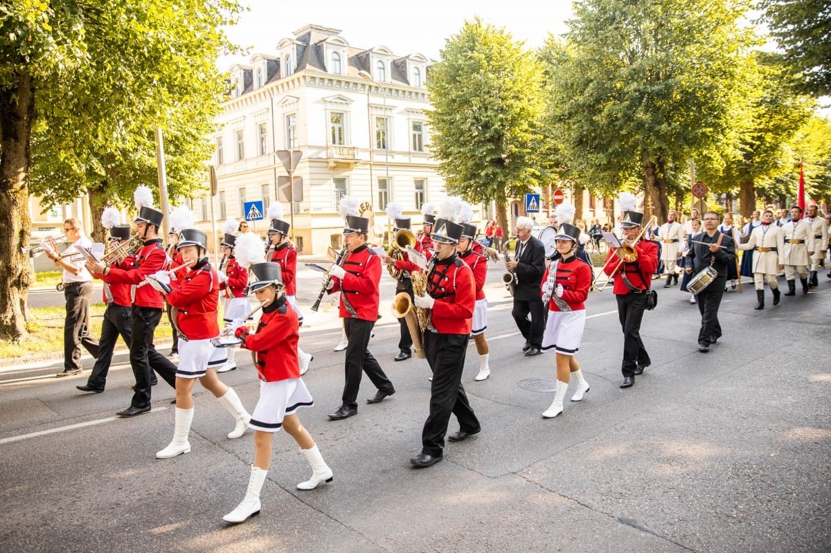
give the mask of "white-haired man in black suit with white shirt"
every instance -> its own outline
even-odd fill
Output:
[[[514,261],[508,262],[509,272],[517,276],[514,287],[514,316],[517,328],[525,338],[523,351],[526,357],[542,353],[545,308],[539,286],[545,272],[545,246],[531,236],[534,222],[527,217],[517,218],[517,245]],[[528,314],[531,321],[528,321]]]

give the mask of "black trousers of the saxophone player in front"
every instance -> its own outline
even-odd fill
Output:
[[[540,302],[542,303],[542,302]],[[462,386],[468,335],[425,332],[425,356],[433,371],[430,386],[430,414],[421,432],[421,452],[440,456],[450,414],[455,414],[462,432],[479,430],[479,419],[470,407]]]

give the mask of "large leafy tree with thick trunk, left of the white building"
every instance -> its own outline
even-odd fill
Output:
[[[215,61],[234,49],[221,27],[239,10],[236,0],[0,5],[0,337],[25,335],[30,184],[55,201],[89,192],[99,209],[123,203],[155,180],[159,127],[171,138],[171,194],[194,188],[224,91]]]

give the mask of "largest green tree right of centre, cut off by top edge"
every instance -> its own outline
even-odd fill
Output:
[[[642,186],[666,220],[689,160],[735,157],[752,33],[746,0],[584,0],[574,4],[553,106],[571,170],[588,188]],[[551,47],[551,44],[547,45]]]

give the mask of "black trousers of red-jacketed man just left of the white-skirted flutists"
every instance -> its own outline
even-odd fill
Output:
[[[153,333],[161,321],[161,309],[133,306],[130,316],[130,366],[135,376],[135,389],[130,404],[139,409],[150,405],[150,381],[153,371],[165,379],[171,388],[176,387],[176,365],[155,350]]]

